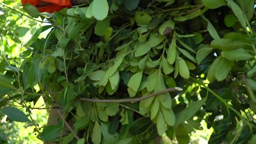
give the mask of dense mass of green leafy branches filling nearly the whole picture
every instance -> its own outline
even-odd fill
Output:
[[[1,111],[35,127],[43,141],[161,143],[166,133],[189,143],[207,123],[209,143],[253,143],[254,4],[93,0],[54,14],[26,5],[30,19],[47,25],[0,23],[0,38],[9,35],[21,47],[19,58],[1,53]],[[27,103],[40,97],[49,108],[44,127],[12,105],[29,116]]]

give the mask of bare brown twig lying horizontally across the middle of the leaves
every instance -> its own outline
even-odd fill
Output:
[[[134,99],[89,99],[89,98],[80,98],[80,101],[91,101],[93,103],[135,103],[137,101],[142,101],[144,99],[148,99],[154,97],[159,94],[167,93],[167,92],[175,92],[182,91],[183,89],[180,87],[167,88],[162,91],[154,92],[152,94],[147,95],[146,97],[134,98]]]

